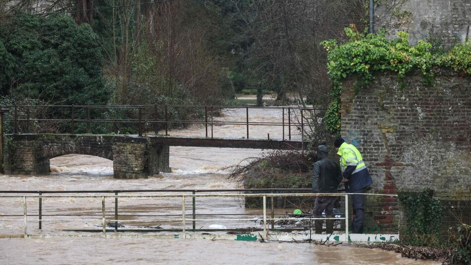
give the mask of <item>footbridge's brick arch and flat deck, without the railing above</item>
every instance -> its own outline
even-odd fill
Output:
[[[170,146],[300,149],[307,142],[133,136],[111,134],[5,134],[3,170],[6,174],[50,172],[50,159],[65,154],[86,154],[113,161],[115,178],[145,178],[170,172]]]

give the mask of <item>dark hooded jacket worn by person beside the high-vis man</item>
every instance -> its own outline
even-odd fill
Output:
[[[339,165],[329,158],[327,146],[317,147],[317,158],[312,173],[313,193],[336,193],[342,182],[342,172]]]

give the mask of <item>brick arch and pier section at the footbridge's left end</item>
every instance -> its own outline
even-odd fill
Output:
[[[169,146],[146,137],[17,134],[5,135],[4,144],[6,174],[49,173],[49,159],[72,153],[113,160],[115,178],[144,178],[170,171]]]

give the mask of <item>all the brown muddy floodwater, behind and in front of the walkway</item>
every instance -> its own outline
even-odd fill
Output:
[[[250,110],[251,119],[275,122],[281,110]],[[245,110],[224,111],[226,120],[245,119]],[[218,119],[222,119],[218,118]],[[219,126],[214,128],[215,137],[243,137],[244,126]],[[263,138],[281,138],[280,127],[251,128],[250,135]],[[286,132],[287,133],[287,132]],[[204,128],[170,132],[171,135],[203,136]],[[299,137],[293,130],[293,137]],[[139,190],[139,189],[234,189],[241,188],[227,179],[225,167],[241,160],[261,154],[261,150],[231,148],[171,147],[170,165],[172,173],[163,173],[148,179],[113,179],[113,162],[107,159],[70,154],[51,159],[51,174],[38,176],[2,175],[0,190]],[[166,193],[168,194],[168,193]],[[96,193],[94,195],[103,195]],[[69,229],[100,229],[101,199],[59,198],[43,199],[43,219],[93,219],[96,221],[30,221],[30,234],[76,234]],[[181,222],[168,221],[180,218],[181,199],[119,199],[120,220],[127,228],[144,228],[160,225],[162,228],[181,228]],[[191,205],[191,200],[186,201]],[[38,214],[37,199],[27,200],[28,214]],[[113,218],[114,199],[107,199],[108,218]],[[190,214],[187,210],[186,214]],[[240,199],[198,198],[197,214],[237,213],[240,216],[224,218],[256,218],[260,210],[245,209]],[[284,213],[288,209],[277,209]],[[4,218],[22,219],[22,199],[0,199],[0,214],[18,215]],[[81,216],[52,216],[80,214]],[[132,215],[140,216],[132,216]],[[142,216],[142,215],[156,216]],[[51,216],[50,216],[51,215]],[[158,215],[158,216],[157,216]],[[217,216],[223,218],[221,216]],[[37,216],[28,216],[30,220]],[[146,221],[148,219],[161,221]],[[215,216],[201,217],[215,218]],[[126,223],[125,220],[140,220]],[[261,227],[254,221],[200,221],[197,228],[211,225],[234,227]],[[0,222],[0,234],[22,234],[22,222]],[[400,254],[382,250],[338,246],[324,247],[312,244],[259,243],[229,240],[204,239],[153,239],[153,238],[48,238],[48,239],[0,239],[0,264],[432,264],[401,258]]]

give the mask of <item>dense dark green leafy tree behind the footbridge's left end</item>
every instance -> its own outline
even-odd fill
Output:
[[[61,104],[104,104],[97,35],[67,15],[19,16],[0,24],[0,91]]]

